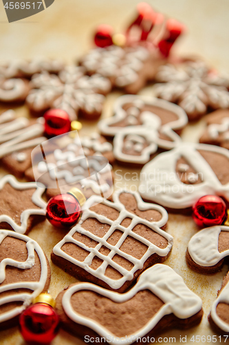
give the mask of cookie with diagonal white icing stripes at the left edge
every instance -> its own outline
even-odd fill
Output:
[[[46,140],[43,119],[16,117],[13,110],[0,115],[0,158],[4,168],[22,178],[30,168],[33,148]]]

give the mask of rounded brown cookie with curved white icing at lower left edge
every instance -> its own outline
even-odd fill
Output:
[[[19,315],[50,285],[50,266],[34,239],[0,230],[0,329],[16,326]]]

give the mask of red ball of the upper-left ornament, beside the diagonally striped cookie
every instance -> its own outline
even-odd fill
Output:
[[[50,109],[45,112],[45,135],[56,137],[71,130],[71,121],[65,110]]]

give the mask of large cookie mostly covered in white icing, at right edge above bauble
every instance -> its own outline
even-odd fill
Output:
[[[182,143],[142,168],[139,192],[142,199],[171,210],[191,208],[204,195],[229,201],[228,169],[225,148]]]

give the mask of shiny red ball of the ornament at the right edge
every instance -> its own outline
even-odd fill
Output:
[[[205,195],[193,206],[193,219],[201,228],[222,224],[226,215],[226,204],[217,195]]]

